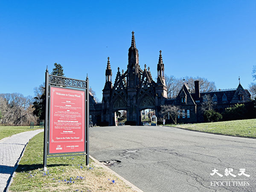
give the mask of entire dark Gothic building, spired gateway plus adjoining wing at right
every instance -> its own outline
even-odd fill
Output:
[[[139,52],[136,48],[134,32],[132,32],[131,47],[128,49],[127,70],[116,74],[112,83],[112,70],[108,58],[105,72],[106,82],[102,90],[102,103],[97,103],[90,95],[90,117],[93,124],[116,125],[116,111],[126,111],[127,121],[142,125],[141,111],[153,109],[160,116],[161,105],[176,105],[182,110],[178,123],[204,122],[201,105],[206,96],[216,103],[215,111],[223,112],[225,108],[236,103],[249,103],[250,93],[239,83],[233,90],[215,90],[201,92],[199,81],[195,81],[195,92],[191,92],[186,83],[180,89],[175,99],[167,98],[167,88],[164,77],[164,64],[160,50],[157,63],[157,82],[151,76],[150,68],[139,65]],[[90,118],[89,117],[89,118]],[[168,123],[168,121],[166,122]]]

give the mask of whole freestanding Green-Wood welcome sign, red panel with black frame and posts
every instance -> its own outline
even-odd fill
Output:
[[[86,155],[88,165],[88,78],[83,81],[53,76],[46,70],[45,79],[44,171],[48,157],[70,156],[63,155],[67,153]]]

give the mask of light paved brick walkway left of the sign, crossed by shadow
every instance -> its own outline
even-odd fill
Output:
[[[26,131],[0,141],[0,192],[6,190],[26,143],[42,131]]]

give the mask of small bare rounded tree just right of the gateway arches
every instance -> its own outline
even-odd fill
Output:
[[[167,119],[170,116],[175,124],[177,124],[177,117],[182,116],[182,110],[175,105],[161,105],[160,114]]]

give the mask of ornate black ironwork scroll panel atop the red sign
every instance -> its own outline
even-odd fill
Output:
[[[66,77],[49,75],[49,84],[64,86],[64,87],[74,87],[80,89],[86,89],[86,81],[78,79],[70,79]]]

